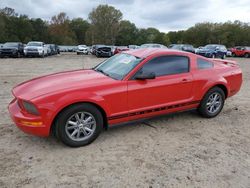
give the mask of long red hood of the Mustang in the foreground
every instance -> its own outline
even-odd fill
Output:
[[[12,93],[17,98],[31,100],[51,93],[86,89],[112,81],[115,80],[94,70],[67,71],[23,82]]]

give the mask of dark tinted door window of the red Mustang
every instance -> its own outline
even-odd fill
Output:
[[[140,69],[137,74],[154,72],[156,77],[189,72],[189,58],[186,56],[156,57]]]

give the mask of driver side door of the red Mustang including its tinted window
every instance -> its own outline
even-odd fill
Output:
[[[160,56],[146,62],[128,81],[128,108],[131,119],[151,111],[192,100],[193,76],[186,56]],[[155,79],[137,80],[143,72],[154,72]]]

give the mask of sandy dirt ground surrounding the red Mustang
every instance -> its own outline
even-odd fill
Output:
[[[214,119],[166,115],[109,129],[81,148],[27,135],[10,120],[16,84],[102,60],[73,54],[0,59],[1,188],[250,187],[250,59],[235,59],[244,73],[242,89]]]

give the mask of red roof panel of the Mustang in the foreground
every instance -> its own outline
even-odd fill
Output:
[[[171,53],[175,52],[177,54],[187,55],[189,53],[179,50],[172,50],[167,48],[139,48],[135,50],[124,51],[123,53],[130,54],[139,58],[146,58],[150,55],[158,54],[158,53]]]

